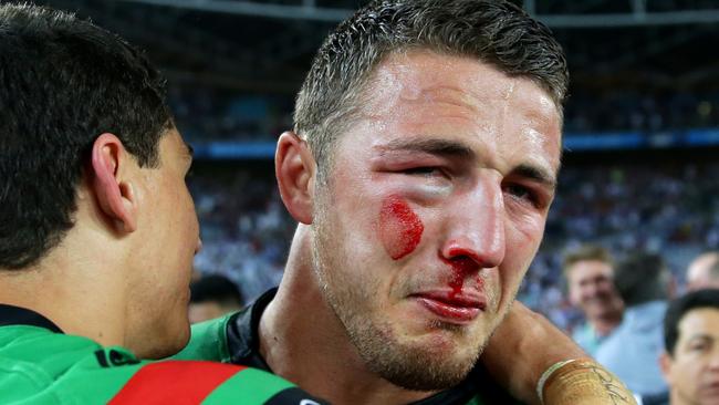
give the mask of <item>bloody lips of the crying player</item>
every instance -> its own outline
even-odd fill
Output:
[[[450,323],[469,323],[487,308],[481,295],[454,294],[451,291],[423,292],[411,297],[429,312]]]

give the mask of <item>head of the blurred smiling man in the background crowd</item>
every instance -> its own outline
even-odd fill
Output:
[[[617,318],[622,300],[614,288],[614,262],[606,249],[585,245],[564,256],[564,278],[570,302],[582,309],[588,321]]]

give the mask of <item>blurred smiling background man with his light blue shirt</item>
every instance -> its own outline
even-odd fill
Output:
[[[564,257],[563,271],[570,302],[585,318],[572,339],[595,355],[600,344],[622,322],[624,304],[614,288],[614,262],[604,248],[585,245]]]

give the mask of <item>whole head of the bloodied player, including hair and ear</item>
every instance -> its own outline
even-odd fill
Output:
[[[439,390],[475,364],[542,238],[566,79],[549,30],[503,1],[374,1],[321,48],[278,180],[375,374]]]

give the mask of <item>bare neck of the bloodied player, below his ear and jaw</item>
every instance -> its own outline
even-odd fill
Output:
[[[278,294],[260,320],[260,353],[268,365],[333,404],[397,404],[431,395],[400,388],[368,370],[322,295],[310,238],[300,226]]]

